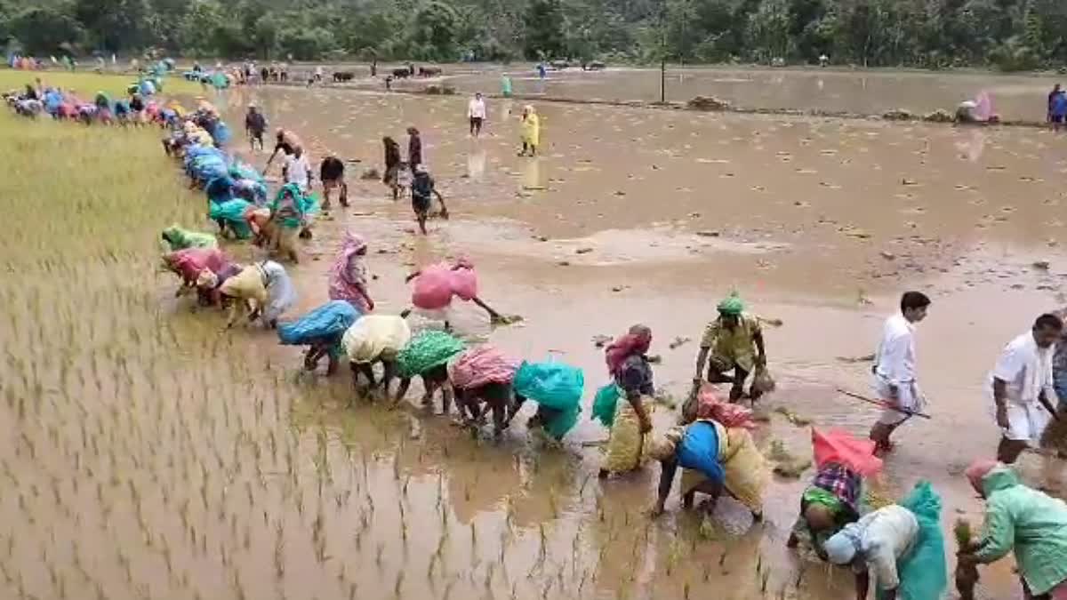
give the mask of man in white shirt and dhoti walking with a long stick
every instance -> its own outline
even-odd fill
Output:
[[[875,393],[886,402],[881,416],[871,428],[876,452],[892,449],[890,436],[926,404],[915,377],[915,323],[926,318],[929,305],[930,299],[925,294],[906,291],[901,297],[901,312],[886,319],[882,327],[871,369]]]

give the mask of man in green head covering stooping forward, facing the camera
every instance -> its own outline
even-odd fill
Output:
[[[696,390],[704,381],[706,363],[707,381],[732,384],[730,401],[735,402],[745,395],[745,380],[749,374],[767,365],[767,350],[759,319],[745,313],[745,301],[739,296],[731,294],[719,302],[718,313],[718,318],[707,325],[700,341],[692,384]],[[759,389],[749,390],[752,400],[760,395]]]

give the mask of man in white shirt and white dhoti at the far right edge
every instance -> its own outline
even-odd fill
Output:
[[[1016,337],[989,374],[993,415],[1001,428],[997,460],[1012,464],[1040,440],[1055,413],[1052,354],[1064,323],[1055,315],[1037,317],[1031,331]]]

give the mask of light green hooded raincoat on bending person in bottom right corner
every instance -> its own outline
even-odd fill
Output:
[[[983,477],[982,488],[986,525],[977,558],[992,563],[1014,548],[1019,572],[1034,596],[1067,580],[1067,504],[1022,485],[1006,467]]]

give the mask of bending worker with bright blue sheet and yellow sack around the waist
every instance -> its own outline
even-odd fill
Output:
[[[699,397],[696,420],[672,427],[650,444],[649,456],[660,463],[659,491],[653,515],[662,515],[670,495],[674,474],[682,467],[682,502],[691,508],[696,494],[711,496],[704,511],[711,514],[723,491],[763,518],[763,492],[770,478],[763,455],[750,433],[755,428],[752,412],[720,401],[705,388]]]

